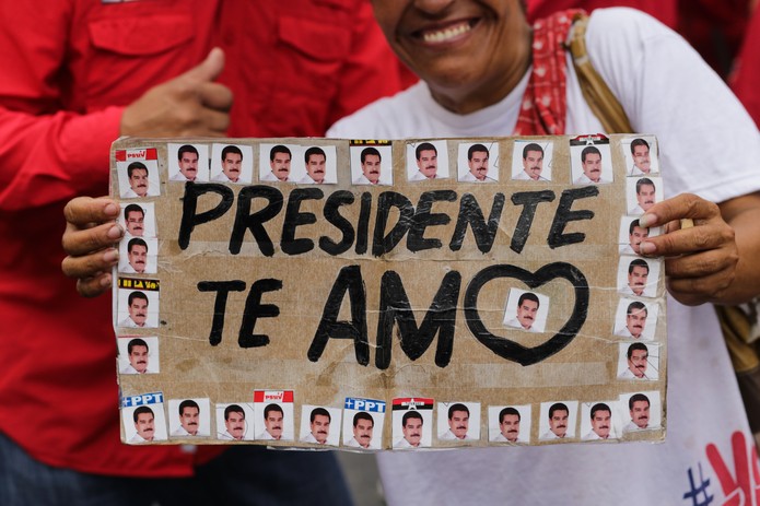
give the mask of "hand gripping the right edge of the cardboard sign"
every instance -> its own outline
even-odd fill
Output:
[[[681,227],[683,219],[691,219],[694,226]],[[665,230],[640,248],[642,255],[665,256],[667,287],[677,301],[689,306],[724,302],[736,278],[739,250],[718,205],[695,195],[679,195],[652,207],[639,222]]]

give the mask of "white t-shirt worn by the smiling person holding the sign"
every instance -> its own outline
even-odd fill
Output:
[[[757,127],[677,34],[639,11],[600,9],[591,16],[586,43],[633,128],[657,136],[666,197],[693,192],[721,202],[760,190]],[[526,84],[527,75],[502,102],[460,116],[440,107],[419,83],[340,120],[328,134],[511,136]],[[569,62],[566,132],[601,131]],[[668,298],[668,333],[664,444],[384,452],[378,461],[388,504],[503,504],[513,497],[519,504],[679,505],[691,504],[685,495],[706,480],[712,504],[723,504],[705,448],[714,445],[733,472],[732,436],[744,435],[747,452],[753,439],[715,313],[710,305],[687,307]]]

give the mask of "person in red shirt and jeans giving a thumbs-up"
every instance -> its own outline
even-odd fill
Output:
[[[395,92],[369,2],[19,0],[0,19],[0,504],[348,501],[329,454],[121,445],[110,297],[60,274],[60,216],[107,192],[119,136],[319,136]]]

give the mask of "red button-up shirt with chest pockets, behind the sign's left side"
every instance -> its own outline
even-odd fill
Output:
[[[107,192],[122,107],[213,45],[236,137],[320,136],[397,91],[398,64],[365,0],[16,0],[0,19],[0,431],[51,466],[190,474],[178,446],[120,443],[110,297],[61,274],[63,204]]]

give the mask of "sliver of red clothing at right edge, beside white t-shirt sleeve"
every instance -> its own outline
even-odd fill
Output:
[[[760,127],[760,9],[755,10],[747,27],[736,73],[732,79],[732,90],[739,97],[747,111]]]

